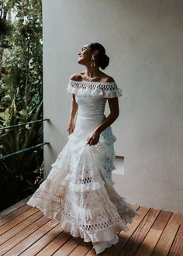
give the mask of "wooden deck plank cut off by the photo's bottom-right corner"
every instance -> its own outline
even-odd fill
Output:
[[[183,224],[179,225],[178,233],[171,246],[168,256],[183,255]]]

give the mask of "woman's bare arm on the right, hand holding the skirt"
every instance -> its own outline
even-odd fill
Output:
[[[102,133],[103,130],[105,130],[108,126],[110,126],[114,121],[118,118],[119,116],[119,102],[118,98],[112,98],[108,99],[109,102],[109,109],[110,109],[110,114],[107,116],[107,118],[100,123],[93,133],[91,133],[91,136],[88,137],[87,144],[95,145],[98,143],[100,133]]]

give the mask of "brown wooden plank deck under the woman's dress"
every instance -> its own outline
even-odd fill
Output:
[[[91,243],[71,237],[57,220],[50,220],[39,209],[26,205],[29,197],[0,213],[0,255],[5,256],[82,256],[95,255]],[[119,243],[105,256],[182,256],[183,214],[133,206],[141,216],[119,233]]]

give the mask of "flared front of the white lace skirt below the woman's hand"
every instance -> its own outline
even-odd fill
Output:
[[[72,139],[27,204],[58,220],[73,237],[85,242],[112,240],[120,230],[129,230],[126,223],[140,213],[113,189],[97,148],[77,137]]]

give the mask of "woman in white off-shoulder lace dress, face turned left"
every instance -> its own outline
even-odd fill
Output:
[[[116,244],[120,230],[139,212],[113,188],[115,152],[111,124],[119,116],[122,91],[112,77],[100,71],[109,57],[100,43],[88,43],[78,53],[85,71],[73,74],[67,85],[72,94],[67,131],[69,140],[27,204],[60,221],[73,237],[91,241],[96,254]],[[104,115],[109,102],[109,116]],[[74,117],[78,111],[76,124]]]

